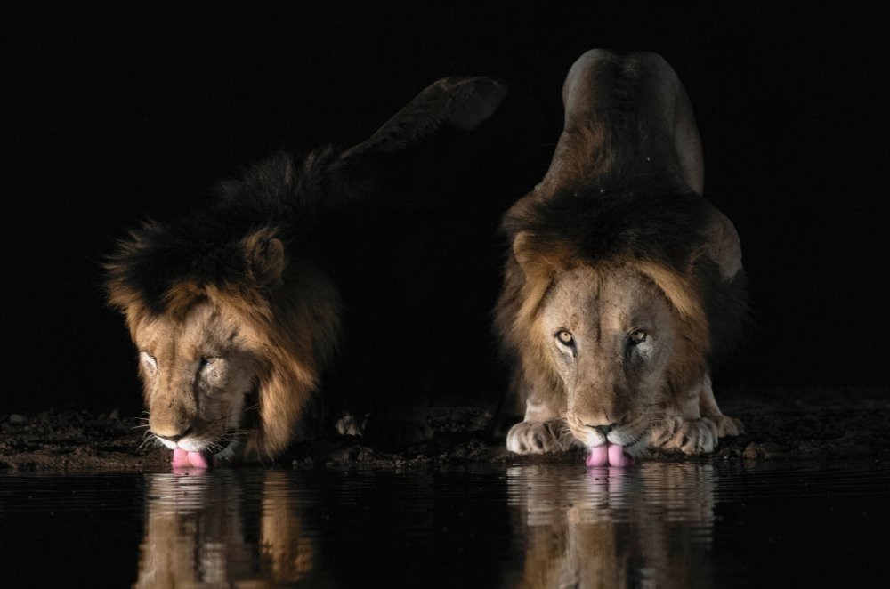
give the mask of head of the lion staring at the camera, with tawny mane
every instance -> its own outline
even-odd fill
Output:
[[[668,416],[698,416],[710,346],[692,272],[586,259],[528,232],[514,260],[522,304],[501,309],[501,326],[533,396],[558,407],[574,440],[635,456]]]

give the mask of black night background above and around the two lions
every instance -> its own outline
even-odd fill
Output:
[[[134,351],[98,265],[144,216],[205,198],[274,149],[358,142],[448,75],[506,78],[555,142],[562,80],[594,47],[661,53],[691,96],[705,194],[740,232],[756,317],[721,382],[888,383],[877,10],[123,4],[0,9],[0,415],[139,410]]]

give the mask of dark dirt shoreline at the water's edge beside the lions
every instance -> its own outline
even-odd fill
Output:
[[[846,460],[890,461],[890,387],[774,387],[721,391],[724,413],[741,419],[746,432],[724,439],[712,456],[686,458],[655,454],[652,460]],[[436,436],[390,454],[358,439],[295,446],[276,464],[316,466],[465,462],[572,462],[580,452],[515,456],[502,440],[485,435],[490,407],[450,399],[433,407]],[[142,418],[117,411],[47,409],[35,415],[0,409],[0,471],[145,470],[170,468],[170,451],[144,438]]]

